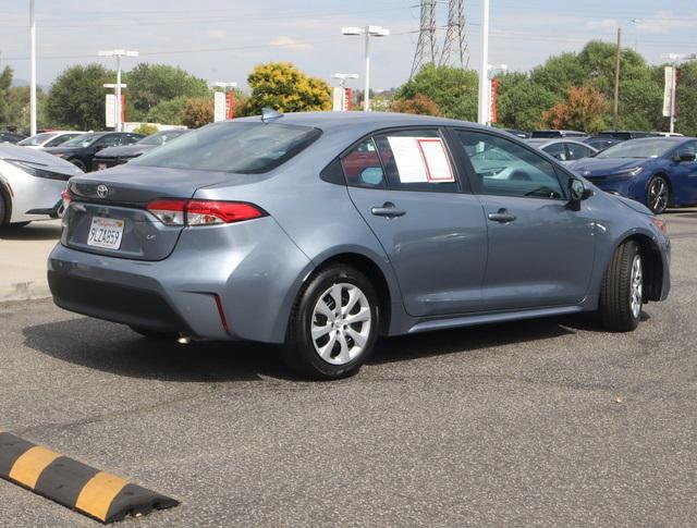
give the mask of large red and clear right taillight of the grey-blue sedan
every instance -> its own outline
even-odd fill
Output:
[[[157,199],[147,206],[166,225],[213,225],[259,218],[265,212],[242,201]]]

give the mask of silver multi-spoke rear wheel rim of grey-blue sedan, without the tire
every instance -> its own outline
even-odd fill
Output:
[[[319,296],[313,312],[315,352],[331,365],[346,365],[364,351],[371,321],[370,305],[358,286],[332,284]]]

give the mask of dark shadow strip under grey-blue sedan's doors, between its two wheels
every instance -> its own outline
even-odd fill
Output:
[[[570,318],[533,319],[383,339],[368,363],[376,365],[453,353],[475,353],[516,343],[555,339],[575,333],[568,328],[568,321]]]

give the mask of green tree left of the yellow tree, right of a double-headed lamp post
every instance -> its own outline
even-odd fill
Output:
[[[181,67],[167,64],[140,63],[124,75],[127,94],[133,103],[135,121],[146,119],[151,109],[162,101],[176,98],[198,98],[209,94],[203,78]]]

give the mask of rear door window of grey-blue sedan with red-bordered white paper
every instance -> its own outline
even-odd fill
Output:
[[[386,132],[375,136],[387,185],[395,191],[457,193],[445,140],[438,130]]]

